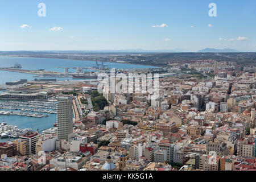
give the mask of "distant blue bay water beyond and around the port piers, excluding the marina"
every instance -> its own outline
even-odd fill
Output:
[[[34,57],[1,57],[0,67],[9,68],[13,67],[15,63],[22,65],[22,69],[38,70],[44,69],[45,71],[63,72],[64,69],[57,67],[95,67],[95,61],[81,61],[81,60],[65,60],[65,59],[51,59],[51,58],[34,58]],[[143,69],[143,68],[155,68],[144,65],[122,64],[122,63],[104,63],[108,68],[115,69]],[[69,69],[69,72],[76,72],[76,69]],[[27,79],[28,81],[34,80],[36,75],[30,75],[26,73],[7,72],[0,70],[0,84],[5,82],[19,81],[20,79]],[[46,78],[46,77],[44,77]],[[72,78],[59,78],[57,80],[70,80]]]

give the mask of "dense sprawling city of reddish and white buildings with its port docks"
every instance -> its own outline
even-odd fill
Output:
[[[106,66],[93,68],[98,71],[89,74],[77,68],[77,72],[110,75]],[[42,131],[2,122],[0,169],[256,170],[255,68],[232,61],[193,60],[169,62],[165,68],[118,69],[123,75],[157,73],[157,98],[142,89],[134,92],[134,83],[133,92],[112,92],[105,85],[100,93],[98,79],[6,82],[0,114],[57,117],[54,126]],[[22,71],[22,65],[16,63],[13,69]],[[122,80],[114,77],[114,82]]]

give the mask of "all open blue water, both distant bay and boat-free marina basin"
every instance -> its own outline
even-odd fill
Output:
[[[44,69],[45,71],[64,72],[64,69],[57,67],[95,67],[95,61],[82,61],[82,60],[64,60],[64,59],[51,59],[51,58],[34,58],[34,57],[0,57],[0,67],[7,68],[13,67],[15,63],[22,65],[22,69],[38,70]],[[156,68],[147,65],[133,65],[123,63],[104,63],[109,68],[115,69],[143,69],[143,68]],[[75,72],[76,69],[69,69],[69,72]],[[18,72],[0,71],[0,84],[5,82],[19,81],[20,79],[27,79],[32,81],[35,75]],[[72,78],[56,78],[57,80],[70,80]],[[0,93],[3,91],[0,91]],[[1,104],[1,101],[0,101]],[[1,111],[2,109],[0,109]],[[44,118],[31,118],[22,117],[18,115],[0,115],[0,122],[6,122],[8,125],[17,126],[19,129],[31,128],[33,131],[43,131],[53,127],[56,122],[56,114],[48,114],[49,117]],[[1,139],[0,142],[8,139]]]

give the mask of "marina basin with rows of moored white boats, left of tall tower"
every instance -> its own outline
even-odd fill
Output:
[[[28,128],[40,132],[52,127],[56,122],[56,104],[54,100],[0,100],[0,122],[7,123],[5,126],[1,125],[0,142],[16,138]],[[21,131],[16,131],[17,129]]]

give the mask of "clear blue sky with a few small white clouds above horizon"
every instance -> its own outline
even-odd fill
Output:
[[[38,16],[39,3],[46,4],[46,17]],[[217,17],[208,15],[209,3],[216,3]],[[251,51],[256,50],[255,8],[254,0],[1,1],[0,51]],[[152,27],[162,24],[168,27]]]

